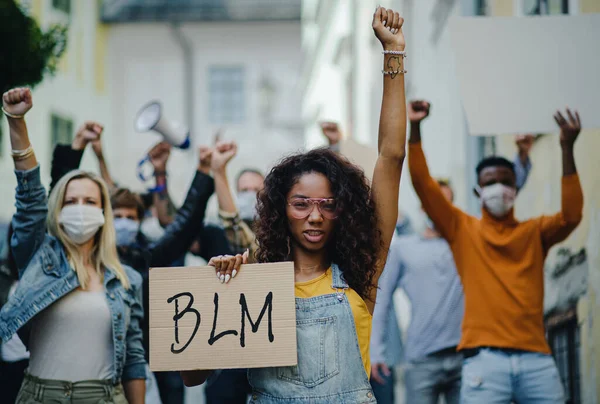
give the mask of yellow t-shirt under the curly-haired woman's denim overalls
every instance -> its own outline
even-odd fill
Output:
[[[333,276],[331,268],[318,278],[307,282],[296,282],[296,297],[309,298],[321,295],[328,295],[336,291],[331,289]],[[346,289],[346,296],[350,302],[354,324],[356,326],[356,335],[358,337],[358,347],[362,356],[363,365],[367,376],[371,376],[371,359],[369,356],[369,343],[371,341],[371,323],[373,316],[364,300],[352,289]]]

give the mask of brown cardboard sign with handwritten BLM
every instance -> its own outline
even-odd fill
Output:
[[[243,265],[227,284],[213,267],[150,271],[150,369],[297,364],[294,266]]]

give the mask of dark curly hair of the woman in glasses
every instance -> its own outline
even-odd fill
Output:
[[[309,173],[320,173],[329,179],[340,208],[333,238],[326,247],[329,258],[339,266],[348,285],[368,299],[381,246],[371,188],[359,167],[329,149],[286,157],[265,178],[254,223],[259,245],[256,259],[258,262],[290,259],[287,197],[300,177]]]

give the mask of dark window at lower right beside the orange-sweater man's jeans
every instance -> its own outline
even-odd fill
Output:
[[[575,309],[546,321],[548,342],[556,361],[568,404],[581,403],[580,335]]]

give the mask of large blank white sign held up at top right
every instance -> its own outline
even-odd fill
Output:
[[[450,32],[471,135],[558,133],[565,106],[600,128],[600,14],[460,17]]]

